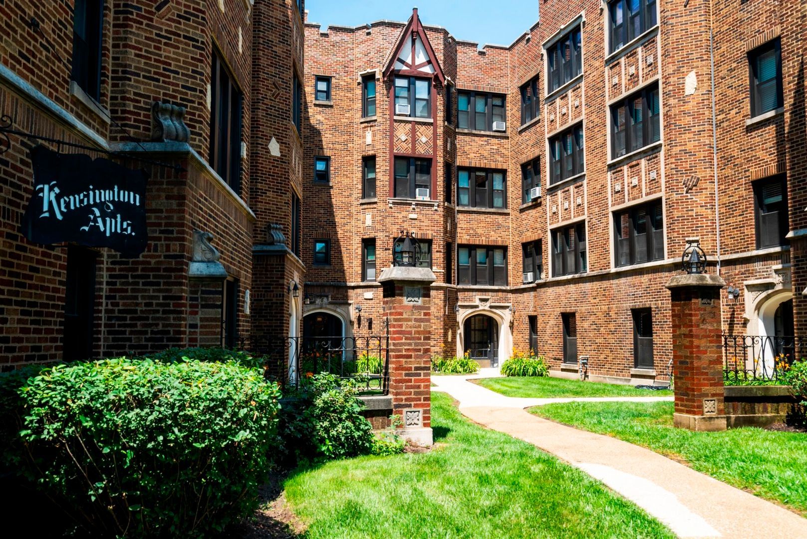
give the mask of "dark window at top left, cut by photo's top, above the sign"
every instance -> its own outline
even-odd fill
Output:
[[[70,77],[101,101],[103,0],[76,0],[73,6],[73,63]]]

